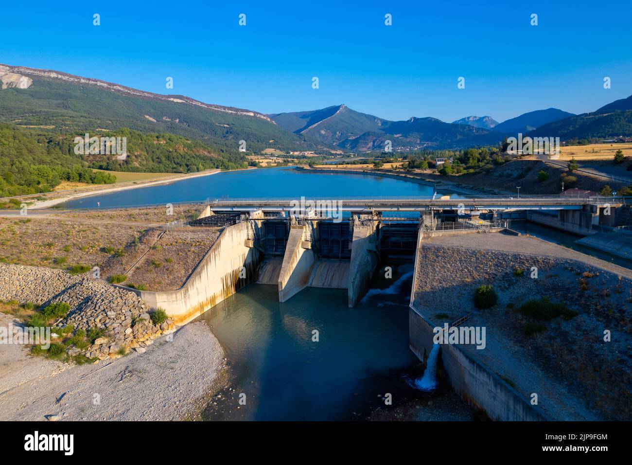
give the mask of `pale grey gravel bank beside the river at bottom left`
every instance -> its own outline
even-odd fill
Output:
[[[12,318],[0,314],[0,325]],[[195,418],[224,353],[204,322],[154,341],[143,354],[69,366],[0,345],[0,420],[178,420]],[[99,402],[97,403],[97,400]]]

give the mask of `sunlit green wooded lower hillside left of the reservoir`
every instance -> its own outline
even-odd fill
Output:
[[[63,180],[97,184],[116,180],[91,168],[164,173],[246,168],[245,157],[238,151],[169,133],[128,128],[90,133],[91,137],[125,137],[127,156],[119,160],[114,154],[75,154],[75,137],[83,134],[35,131],[0,125],[0,197],[48,192]]]

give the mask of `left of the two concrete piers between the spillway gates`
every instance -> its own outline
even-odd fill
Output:
[[[316,255],[307,249],[303,237],[307,225],[292,225],[279,274],[279,302],[285,302],[309,285]]]

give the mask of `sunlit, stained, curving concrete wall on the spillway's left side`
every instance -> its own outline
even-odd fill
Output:
[[[176,325],[184,325],[254,281],[260,252],[246,245],[254,227],[254,223],[248,221],[226,227],[186,283],[177,290],[126,289],[140,295],[150,306],[162,307]],[[240,277],[242,268],[245,268],[245,278]]]

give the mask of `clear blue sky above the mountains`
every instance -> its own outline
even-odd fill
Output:
[[[344,103],[391,120],[503,121],[631,95],[631,20],[630,0],[13,1],[0,63],[263,113]]]

